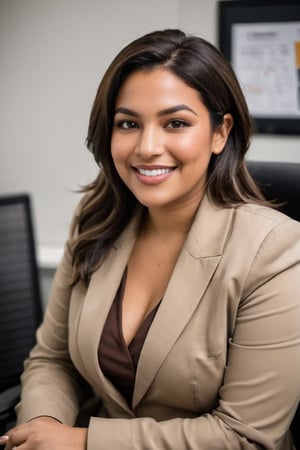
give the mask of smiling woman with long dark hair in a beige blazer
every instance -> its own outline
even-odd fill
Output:
[[[300,226],[247,172],[250,133],[238,82],[205,40],[157,31],[115,58],[88,132],[101,170],[6,449],[293,448]],[[90,387],[102,408],[78,427]]]

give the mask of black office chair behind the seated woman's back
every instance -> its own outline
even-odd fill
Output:
[[[283,203],[279,209],[300,222],[300,163],[248,161],[247,166],[264,196]],[[300,405],[291,431],[295,446],[300,450]]]

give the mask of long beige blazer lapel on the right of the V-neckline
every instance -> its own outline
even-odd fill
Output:
[[[133,408],[192,316],[220,261],[233,209],[205,196],[179,255],[163,301],[145,340],[136,374]]]

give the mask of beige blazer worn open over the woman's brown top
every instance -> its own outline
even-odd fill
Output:
[[[69,287],[66,245],[22,377],[19,422],[46,414],[73,425],[84,379],[107,414],[91,418],[88,450],[292,449],[300,224],[268,208],[203,199],[142,349],[129,407],[102,374],[97,348],[138,221],[88,289]]]

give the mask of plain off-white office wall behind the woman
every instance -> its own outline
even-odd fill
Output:
[[[29,191],[40,246],[61,247],[96,168],[84,141],[116,52],[157,28],[216,43],[216,0],[0,0],[0,192]],[[250,157],[300,161],[300,138],[255,136]]]

